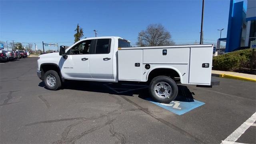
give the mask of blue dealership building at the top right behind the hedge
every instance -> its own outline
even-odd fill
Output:
[[[248,48],[256,39],[256,0],[230,0],[227,37],[220,38],[226,42],[225,52]]]

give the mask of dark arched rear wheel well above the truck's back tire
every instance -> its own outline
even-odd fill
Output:
[[[180,75],[176,70],[171,68],[156,68],[152,70],[148,75],[148,82],[150,82],[156,76],[168,76],[175,82],[180,82]]]

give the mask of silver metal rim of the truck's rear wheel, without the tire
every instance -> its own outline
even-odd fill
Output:
[[[172,87],[166,82],[158,82],[154,86],[154,92],[159,98],[170,98],[170,95],[172,94]]]

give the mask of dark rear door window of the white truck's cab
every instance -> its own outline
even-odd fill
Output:
[[[110,52],[110,38],[98,39],[95,54],[108,54]]]

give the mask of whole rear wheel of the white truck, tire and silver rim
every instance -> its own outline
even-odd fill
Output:
[[[178,94],[178,86],[168,76],[157,76],[150,82],[149,93],[156,102],[170,103]]]

